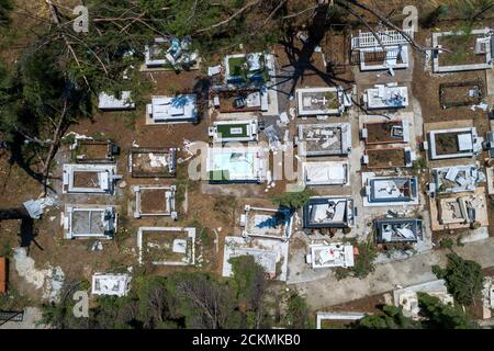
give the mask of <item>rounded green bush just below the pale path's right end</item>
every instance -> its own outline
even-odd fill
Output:
[[[446,268],[433,265],[433,272],[438,279],[446,281],[448,292],[453,295],[457,303],[472,305],[483,288],[482,268],[479,263],[464,260],[456,253],[449,253],[447,258]]]

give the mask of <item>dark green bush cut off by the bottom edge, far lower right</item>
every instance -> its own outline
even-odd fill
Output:
[[[417,293],[420,314],[426,318],[424,325],[433,329],[476,329],[479,325],[470,319],[462,308],[444,304],[437,296]]]

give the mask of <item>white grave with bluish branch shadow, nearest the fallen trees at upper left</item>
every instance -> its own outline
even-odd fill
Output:
[[[197,123],[198,118],[195,94],[153,97],[146,107],[146,124]]]

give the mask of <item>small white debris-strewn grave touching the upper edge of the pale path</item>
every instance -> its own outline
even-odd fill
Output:
[[[353,267],[353,247],[349,244],[314,244],[310,252],[307,261],[313,269]]]

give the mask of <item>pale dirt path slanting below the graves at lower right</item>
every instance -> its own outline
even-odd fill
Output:
[[[454,248],[454,251],[465,259],[474,260],[482,268],[494,267],[494,238],[467,244]],[[393,290],[395,285],[408,286],[435,280],[431,265],[446,264],[448,252],[447,250],[428,251],[404,261],[379,264],[375,271],[364,280],[337,281],[333,274],[328,274],[324,279],[292,286],[305,295],[310,306],[317,310],[382,294]]]

